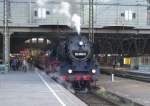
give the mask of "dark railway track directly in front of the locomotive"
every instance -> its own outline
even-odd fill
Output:
[[[76,93],[78,98],[84,101],[88,106],[116,106],[113,103],[105,100],[104,98],[98,97],[93,93]]]

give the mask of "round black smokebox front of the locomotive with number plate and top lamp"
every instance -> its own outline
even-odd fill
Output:
[[[92,44],[84,36],[75,36],[68,40],[67,51],[72,61],[86,61],[92,56]]]

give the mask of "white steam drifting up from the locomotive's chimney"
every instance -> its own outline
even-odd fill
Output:
[[[39,7],[44,7],[48,0],[37,0],[37,4]],[[73,4],[72,0],[58,0],[60,2],[58,7],[54,7],[53,13],[58,14],[60,16],[65,16],[65,22],[70,27],[75,27],[78,34],[80,34],[81,27],[81,17],[78,15],[79,8]],[[79,2],[80,0],[75,0],[75,2]]]

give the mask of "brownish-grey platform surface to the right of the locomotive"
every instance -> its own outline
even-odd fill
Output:
[[[112,82],[111,76],[101,75],[97,85],[118,96],[150,106],[150,83],[120,77],[114,77],[114,79],[115,81]]]

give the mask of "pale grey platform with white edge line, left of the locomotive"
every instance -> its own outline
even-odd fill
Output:
[[[86,106],[38,71],[0,74],[0,106]]]

